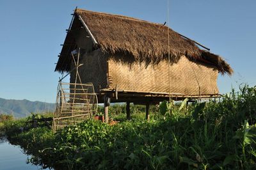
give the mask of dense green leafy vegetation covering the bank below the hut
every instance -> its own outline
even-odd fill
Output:
[[[31,162],[56,169],[256,168],[256,87],[188,108],[163,102],[149,122],[143,107],[132,105],[131,121],[122,121],[125,105],[110,108],[120,120],[113,126],[88,120],[56,134],[46,127],[16,133],[10,130],[22,122],[14,121],[6,134],[33,154]]]

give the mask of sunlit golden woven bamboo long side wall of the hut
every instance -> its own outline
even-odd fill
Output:
[[[109,59],[110,88],[131,91],[169,91],[168,61],[157,65],[145,63],[121,63]],[[189,61],[182,56],[178,63],[170,66],[170,92],[182,95],[207,95],[218,93],[218,70],[212,66]]]

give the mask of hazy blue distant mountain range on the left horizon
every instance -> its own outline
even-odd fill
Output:
[[[55,104],[46,102],[31,102],[29,100],[8,100],[0,98],[0,114],[13,114],[16,118],[28,116],[31,112],[52,112]]]

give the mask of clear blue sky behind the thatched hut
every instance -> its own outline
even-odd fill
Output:
[[[54,72],[74,8],[167,20],[167,1],[1,0],[0,98],[55,102]],[[220,54],[234,68],[219,76],[221,93],[242,82],[256,85],[256,1],[170,0],[170,27]]]

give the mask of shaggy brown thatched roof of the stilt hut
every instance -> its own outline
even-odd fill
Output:
[[[232,68],[220,56],[199,49],[192,40],[183,38],[163,24],[122,15],[77,9],[71,30],[82,26],[78,16],[81,16],[86,23],[102,51],[113,54],[113,56],[130,58],[140,62],[146,61],[152,64],[158,63],[168,58],[169,29],[169,49],[172,63],[176,63],[184,55],[188,59],[214,65],[221,73],[231,74],[233,72]],[[70,70],[71,58],[69,54],[72,47],[75,48],[76,45],[72,33],[68,32],[56,71]]]

